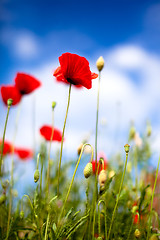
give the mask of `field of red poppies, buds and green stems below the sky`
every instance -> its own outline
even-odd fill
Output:
[[[38,146],[38,152],[15,144],[21,112],[12,119],[16,122],[13,141],[9,142],[5,135],[7,123],[11,121],[11,108],[15,105],[18,108],[25,95],[43,87],[41,82],[26,73],[17,73],[13,84],[1,86],[1,101],[8,111],[0,137],[0,239],[159,239],[160,158],[157,168],[149,170],[152,157],[150,122],[143,136],[139,136],[132,123],[122,146],[124,155],[115,153],[112,159],[106,158],[97,147],[101,78],[106,67],[103,57],[96,62],[97,73],[90,70],[85,57],[77,54],[62,54],[59,64],[53,72],[53,82],[63,82],[68,87],[64,125],[63,129],[54,126],[55,108],[58,107],[54,99],[51,102],[52,124],[39,129],[44,141]],[[77,158],[63,161],[71,89],[75,87],[81,91],[84,87],[89,91],[92,81],[98,81],[95,144],[92,146],[84,140],[77,146]],[[60,151],[53,158],[51,148],[55,141],[59,142]],[[22,197],[15,197],[15,157],[20,161],[29,158],[34,161],[34,176],[30,178],[36,187],[31,186]],[[6,158],[10,159],[9,168]],[[85,162],[83,177],[76,178],[82,162]],[[20,184],[21,179],[18,182]]]

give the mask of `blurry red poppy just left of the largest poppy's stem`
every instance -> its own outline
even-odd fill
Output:
[[[50,141],[52,136],[52,127],[48,125],[44,125],[43,127],[40,128],[40,133],[47,141]],[[54,128],[52,141],[57,141],[57,142],[62,141],[62,133],[57,128]]]

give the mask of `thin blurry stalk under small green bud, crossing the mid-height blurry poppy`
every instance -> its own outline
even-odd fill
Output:
[[[52,133],[51,139],[49,143],[49,150],[48,150],[48,168],[47,168],[47,196],[49,198],[49,185],[50,185],[50,153],[51,153],[51,144],[54,134],[54,108],[52,108]]]

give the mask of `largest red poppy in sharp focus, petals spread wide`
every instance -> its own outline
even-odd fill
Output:
[[[92,87],[92,79],[98,77],[98,74],[90,71],[89,62],[86,58],[77,54],[63,53],[59,57],[60,67],[58,67],[53,76],[57,81],[72,83],[76,87]]]

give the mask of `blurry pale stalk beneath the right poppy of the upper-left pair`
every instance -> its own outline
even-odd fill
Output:
[[[12,155],[11,155],[11,183],[10,183],[10,188],[9,188],[9,210],[8,210],[8,223],[7,223],[7,237],[9,235],[9,224],[10,224],[10,219],[11,219],[11,211],[12,211],[12,189],[13,189],[13,171],[14,171],[14,145],[15,145],[15,140],[16,140],[16,135],[17,135],[17,130],[18,130],[18,122],[19,122],[19,115],[20,115],[20,110],[21,110],[21,103],[19,104],[18,112],[17,112],[17,117],[15,121],[15,132],[13,136],[13,143],[12,143]]]

